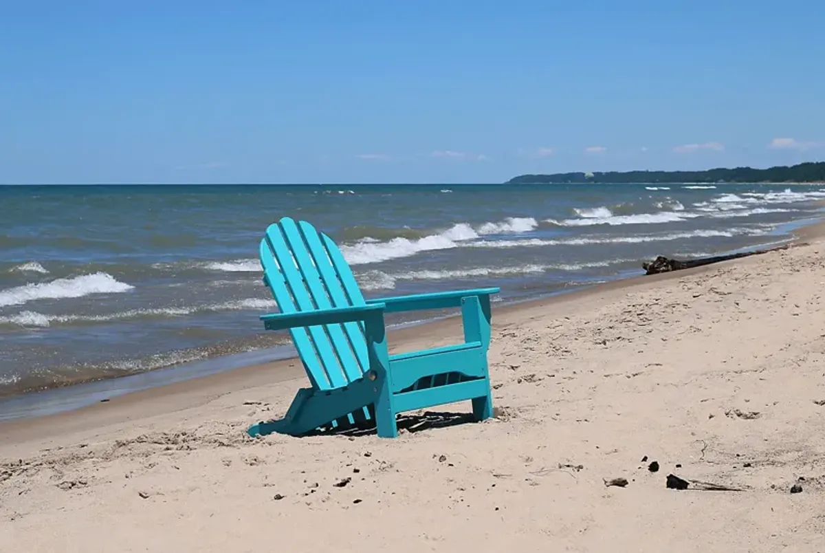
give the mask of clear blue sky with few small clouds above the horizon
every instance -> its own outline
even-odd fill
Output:
[[[821,160],[822,21],[819,0],[0,0],[0,182]]]

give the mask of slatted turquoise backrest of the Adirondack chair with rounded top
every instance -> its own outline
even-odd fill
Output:
[[[365,305],[341,250],[305,221],[284,217],[269,225],[260,254],[264,282],[281,313]],[[363,324],[323,324],[290,333],[318,390],[340,388],[369,370]]]

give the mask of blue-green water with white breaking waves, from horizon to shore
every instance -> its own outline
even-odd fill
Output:
[[[501,286],[513,301],[640,274],[658,254],[778,243],[823,199],[787,185],[0,187],[0,396],[285,343],[257,319],[276,310],[257,244],[284,215],[330,234],[365,295]]]

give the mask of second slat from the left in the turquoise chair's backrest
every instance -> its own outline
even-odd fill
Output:
[[[307,288],[304,284],[304,277],[299,272],[295,258],[300,255],[307,256],[306,248],[301,246],[299,250],[290,251],[287,245],[282,226],[285,219],[281,220],[280,225],[270,225],[266,229],[266,242],[269,243],[270,248],[275,253],[278,264],[281,266],[281,274],[285,277],[286,285],[291,292],[292,298],[295,300],[295,306],[300,311],[308,311],[318,309],[310,298]],[[295,258],[293,258],[295,256]],[[276,297],[276,301],[278,298]],[[329,388],[339,388],[346,385],[346,380],[342,375],[340,366],[338,365],[337,357],[332,352],[332,344],[329,342],[326,329],[321,325],[311,326],[309,329],[309,336],[312,338],[312,345],[314,352],[320,360],[323,377],[327,380],[329,387],[322,387],[321,390]],[[317,370],[317,366],[308,366],[310,371]],[[322,375],[315,375],[319,384],[324,380]]]

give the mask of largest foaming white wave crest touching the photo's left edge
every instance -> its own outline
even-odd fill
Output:
[[[0,291],[0,307],[23,305],[35,300],[80,298],[91,294],[118,294],[132,288],[134,286],[130,284],[116,281],[115,277],[109,273],[96,272],[92,275],[59,278],[51,282],[26,284]]]

